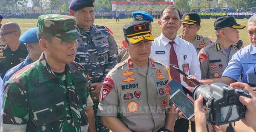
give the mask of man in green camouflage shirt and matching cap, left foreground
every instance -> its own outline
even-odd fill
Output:
[[[44,52],[4,86],[1,132],[87,132],[89,124],[95,131],[88,76],[74,62],[76,23],[67,15],[38,18]]]

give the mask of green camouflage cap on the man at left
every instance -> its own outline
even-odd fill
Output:
[[[48,14],[38,17],[38,31],[48,33],[50,36],[69,42],[82,35],[76,30],[77,20],[68,15]]]

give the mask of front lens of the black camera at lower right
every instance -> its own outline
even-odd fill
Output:
[[[203,105],[205,105],[211,95],[210,86],[197,85],[193,91],[193,98],[196,100],[199,98],[199,95],[203,96]]]

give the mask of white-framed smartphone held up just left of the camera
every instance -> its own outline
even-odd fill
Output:
[[[171,101],[179,108],[179,111],[182,111],[184,117],[190,120],[194,115],[194,104],[186,97],[186,95],[178,89],[170,97]]]

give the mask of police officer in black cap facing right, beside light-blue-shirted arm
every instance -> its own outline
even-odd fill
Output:
[[[232,55],[238,51],[235,44],[239,41],[237,29],[246,26],[236,22],[234,17],[220,17],[214,22],[217,40],[203,48],[198,55],[202,79],[220,78]]]

